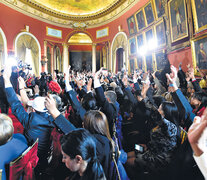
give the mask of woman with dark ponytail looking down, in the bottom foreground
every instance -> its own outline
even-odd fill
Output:
[[[66,167],[75,174],[71,179],[105,180],[101,164],[96,156],[96,143],[85,129],[77,129],[63,136],[61,148]]]

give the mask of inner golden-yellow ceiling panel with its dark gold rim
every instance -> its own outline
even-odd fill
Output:
[[[102,17],[126,0],[20,0],[44,13],[66,20],[91,20]]]

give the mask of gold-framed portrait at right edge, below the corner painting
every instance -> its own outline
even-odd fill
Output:
[[[193,66],[207,72],[207,34],[191,40]]]

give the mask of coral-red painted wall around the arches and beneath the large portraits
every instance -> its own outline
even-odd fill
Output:
[[[129,18],[132,14],[134,14],[140,7],[144,6],[147,2],[148,0],[139,1],[128,12],[126,12],[125,14],[123,14],[121,17],[114,20],[113,22],[106,24],[104,26],[100,26],[98,28],[87,29],[85,32],[91,36],[93,42],[95,43],[100,43],[104,41],[112,42],[114,36],[118,33],[118,26],[121,26],[122,30],[126,32],[128,36],[129,32],[128,32],[128,25],[127,25],[127,18]],[[48,40],[50,42],[53,42],[53,44],[59,44],[61,46],[61,43],[67,42],[69,36],[74,32],[73,29],[62,28],[48,23],[44,23],[42,21],[21,14],[3,4],[0,5],[0,27],[4,31],[5,36],[7,38],[8,51],[14,51],[15,37],[18,35],[18,33],[20,33],[23,29],[25,29],[25,25],[28,25],[30,27],[29,31],[38,39],[41,46],[42,55],[44,49],[43,48],[44,40]],[[46,26],[62,30],[62,39],[46,36]],[[96,30],[103,29],[105,27],[109,27],[109,36],[96,39]],[[62,51],[62,48],[60,49]],[[91,51],[91,46],[70,46],[69,50]],[[189,62],[192,63],[191,49],[187,48],[181,51],[172,52],[169,54],[169,60],[170,63],[175,66],[178,66],[179,62],[182,61],[183,68],[186,69],[186,65]]]

